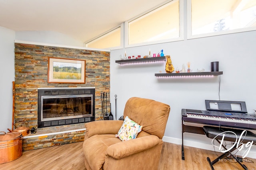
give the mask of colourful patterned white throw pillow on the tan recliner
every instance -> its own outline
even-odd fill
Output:
[[[116,137],[118,137],[121,141],[128,141],[130,139],[135,139],[140,131],[142,131],[142,126],[126,116],[122,127],[116,134]]]

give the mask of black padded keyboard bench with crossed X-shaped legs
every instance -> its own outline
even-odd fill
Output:
[[[224,138],[225,141],[234,142],[234,146],[236,146],[236,144],[237,144],[237,143],[235,143],[236,140],[238,140],[238,138],[240,137],[240,135],[244,131],[244,130],[241,130],[241,129],[230,129],[230,128],[212,127],[212,126],[204,126],[203,130],[204,130],[205,135],[208,138],[216,140],[220,145],[221,145],[220,140],[222,140],[223,132],[227,132],[227,131],[234,132],[235,134],[234,133],[225,133],[225,138]],[[220,134],[220,133],[222,133],[222,134]],[[252,142],[252,141],[253,141],[253,143],[255,143],[256,142],[256,135],[254,133],[246,130],[246,134],[244,133],[242,135],[241,139],[243,139],[242,141],[240,141],[242,143],[248,143],[248,142]],[[228,149],[226,149],[226,147],[223,144],[222,144],[222,147],[225,150],[228,150]],[[236,147],[232,148],[231,150],[227,151],[226,153],[220,155],[218,158],[216,158],[212,162],[211,162],[210,158],[207,157],[207,161],[209,162],[212,170],[214,170],[213,165],[216,162],[220,161],[222,158],[224,158],[225,156],[228,156],[228,155],[232,156],[238,162],[238,164],[240,164],[240,166],[242,166],[242,168],[244,168],[244,170],[248,170],[248,168],[244,164],[241,164],[241,162],[236,158],[236,156],[234,156],[234,154],[232,154],[232,152],[236,149],[237,149]]]

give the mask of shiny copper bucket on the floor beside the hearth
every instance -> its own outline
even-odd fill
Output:
[[[22,155],[22,133],[0,133],[0,164],[20,158]]]

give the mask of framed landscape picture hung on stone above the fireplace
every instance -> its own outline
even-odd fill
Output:
[[[49,57],[48,83],[85,83],[85,60]]]

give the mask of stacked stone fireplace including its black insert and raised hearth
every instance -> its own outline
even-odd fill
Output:
[[[36,133],[23,138],[22,149],[83,141],[84,124],[101,120],[101,92],[110,93],[110,51],[30,43],[15,42],[14,121],[26,119],[30,129],[36,127]],[[85,60],[85,84],[48,83],[48,57]],[[46,91],[41,92],[41,89]],[[73,96],[72,100],[67,99],[69,95]],[[43,108],[46,117],[38,113],[42,110],[38,109],[42,96],[46,102]],[[55,100],[57,104],[53,104]],[[78,106],[80,102],[82,106]]]

